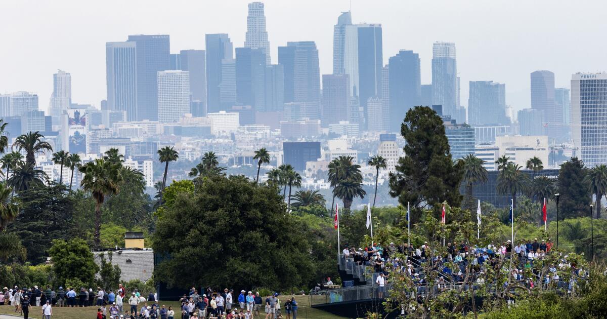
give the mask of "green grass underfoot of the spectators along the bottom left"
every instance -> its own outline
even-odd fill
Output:
[[[285,302],[285,297],[280,296],[280,303]],[[339,319],[344,317],[339,317],[328,312],[324,312],[322,310],[313,309],[310,307],[310,303],[308,300],[308,296],[296,296],[295,299],[299,304],[299,310],[297,310],[297,318],[309,318],[309,319]],[[160,306],[163,304],[166,307],[172,306],[174,309],[178,308],[177,301],[160,301]],[[140,305],[141,306],[141,305]],[[140,307],[138,307],[139,309]],[[9,314],[14,315],[12,306],[0,306],[0,314]],[[109,307],[108,307],[109,309]],[[129,306],[124,306],[125,310],[129,309]],[[175,311],[177,313],[177,311]],[[109,315],[109,311],[107,311]],[[53,318],[56,319],[93,319],[97,316],[97,307],[84,307],[84,308],[69,308],[69,307],[53,307]],[[32,319],[41,319],[42,318],[42,310],[41,307],[32,307],[30,310],[30,318]],[[265,314],[260,315],[259,318],[265,318]],[[283,318],[287,318],[287,315],[283,312]],[[175,319],[181,319],[181,315],[176,314]]]

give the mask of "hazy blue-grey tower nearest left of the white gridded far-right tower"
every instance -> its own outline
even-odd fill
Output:
[[[554,73],[539,70],[531,73],[531,108],[544,111],[544,126],[550,142],[565,139],[563,105],[554,100]]]

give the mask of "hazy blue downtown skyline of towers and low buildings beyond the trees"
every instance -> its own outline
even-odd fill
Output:
[[[157,180],[156,152],[166,145],[194,162],[214,151],[228,167],[255,165],[253,151],[265,147],[270,166],[290,163],[305,173],[308,188],[328,188],[325,171],[336,157],[353,156],[372,175],[366,159],[380,154],[388,160],[382,181],[402,155],[402,120],[418,105],[443,117],[454,159],[476,154],[489,170],[503,155],[523,166],[533,156],[546,167],[571,156],[590,166],[606,162],[605,74],[575,74],[570,91],[555,87],[552,72],[532,72],[531,108],[517,114],[507,105],[506,84],[470,81],[466,107],[455,43],[433,44],[432,83],[422,84],[419,53],[384,57],[382,25],[357,24],[343,12],[333,27],[333,72],[321,74],[314,41],[278,46],[273,64],[264,9],[262,2],[248,5],[242,46],[226,33],[206,34],[204,49],[174,53],[169,35],[107,42],[100,108],[73,103],[71,75],[59,70],[49,114],[39,110],[36,94],[15,92],[0,95],[0,116],[10,137],[40,131],[53,149],[87,160],[118,148],[147,170],[149,187]],[[55,165],[41,165],[58,179]]]

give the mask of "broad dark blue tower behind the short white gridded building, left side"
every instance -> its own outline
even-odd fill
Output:
[[[137,120],[158,120],[158,71],[171,68],[168,35],[129,35],[137,49]]]

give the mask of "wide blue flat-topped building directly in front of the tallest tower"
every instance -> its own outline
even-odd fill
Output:
[[[236,48],[236,103],[265,108],[266,55],[263,49]]]

